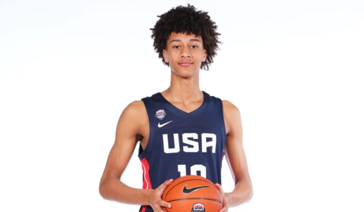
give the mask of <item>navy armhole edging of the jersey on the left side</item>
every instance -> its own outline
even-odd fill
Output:
[[[151,151],[151,148],[153,147],[154,132],[155,132],[155,119],[153,119],[154,118],[153,103],[151,102],[150,98],[143,98],[142,101],[144,103],[144,106],[147,110],[147,115],[148,115],[149,137],[148,137],[147,145],[144,150],[142,148],[142,144],[139,144],[139,155],[138,155],[139,159],[143,159]]]

